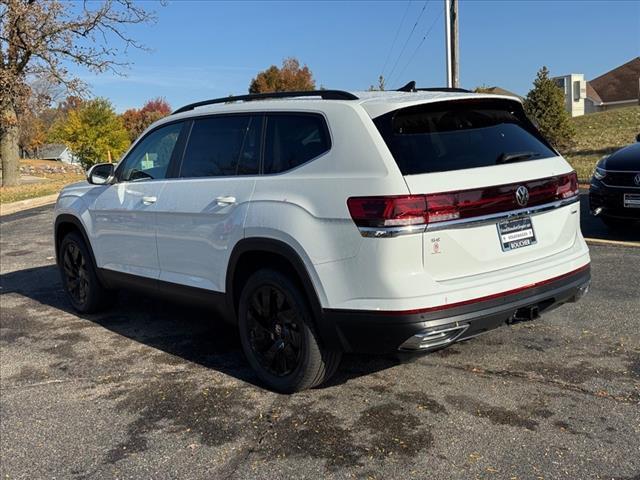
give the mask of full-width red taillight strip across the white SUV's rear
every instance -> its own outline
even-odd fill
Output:
[[[527,188],[524,205],[516,190]],[[464,220],[545,205],[578,195],[578,176],[557,177],[426,195],[351,197],[347,206],[358,227],[390,228]],[[412,229],[413,231],[414,229]]]

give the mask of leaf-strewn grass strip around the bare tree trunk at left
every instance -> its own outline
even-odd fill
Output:
[[[49,160],[21,160],[20,166],[38,167],[51,166]],[[56,164],[60,166],[61,164]],[[17,185],[15,187],[0,187],[0,204],[27,200],[29,198],[44,197],[58,193],[65,185],[83,180],[85,177],[80,173],[48,173],[38,170],[34,176],[45,178],[41,183],[31,183]]]

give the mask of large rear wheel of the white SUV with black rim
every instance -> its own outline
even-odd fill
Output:
[[[342,352],[322,348],[305,296],[276,270],[259,270],[249,278],[240,295],[238,326],[249,364],[277,392],[320,385],[342,358]]]

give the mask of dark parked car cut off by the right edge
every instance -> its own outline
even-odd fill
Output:
[[[591,214],[611,228],[640,228],[640,134],[636,140],[603,157],[591,177]]]

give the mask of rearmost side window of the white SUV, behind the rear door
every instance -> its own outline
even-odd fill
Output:
[[[329,132],[321,115],[267,116],[264,173],[286,172],[330,148]]]

